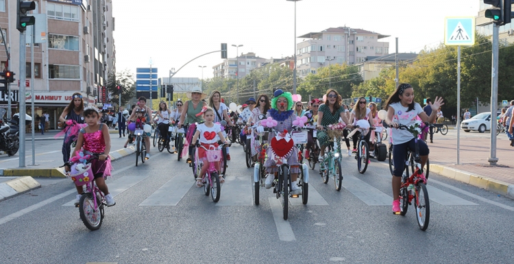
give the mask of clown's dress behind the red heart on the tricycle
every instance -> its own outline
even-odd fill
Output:
[[[271,109],[268,111],[267,117],[272,117],[273,119],[275,119],[278,122],[277,126],[274,128],[276,131],[282,132],[284,130],[287,130],[287,131],[291,132],[291,128],[293,127],[293,121],[296,120],[296,115],[294,113],[292,113],[292,110],[290,110],[290,111],[291,111],[291,114],[289,114],[289,117],[286,117],[286,115],[278,115],[278,117],[277,117],[277,115],[272,115],[271,112],[276,112],[275,109]],[[282,114],[284,114],[284,113],[286,113],[286,112],[283,112]],[[268,136],[269,142],[271,142],[271,139],[273,139],[273,137],[275,137],[275,136],[276,136],[276,134],[274,132],[270,132],[269,136]],[[279,167],[276,166],[275,160],[273,160],[271,158],[272,156],[274,156],[273,153],[271,152],[271,147],[268,147],[266,149],[266,154],[268,156],[267,160],[264,163],[264,167],[266,167],[266,171],[268,173],[275,173],[277,171],[280,171]],[[295,166],[295,167],[291,167],[291,173],[300,173],[300,167],[299,167],[300,164],[298,162],[298,149],[296,147],[293,147],[293,151],[289,154],[288,157],[286,157],[286,160],[287,160],[287,164]]]

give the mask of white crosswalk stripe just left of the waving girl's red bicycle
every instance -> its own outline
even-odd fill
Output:
[[[343,176],[343,187],[367,205],[391,205],[393,198],[355,176]]]

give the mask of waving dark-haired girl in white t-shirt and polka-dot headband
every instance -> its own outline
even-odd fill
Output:
[[[395,93],[389,97],[386,104],[387,118],[386,123],[391,128],[393,139],[393,213],[400,213],[400,186],[402,184],[402,174],[405,167],[405,156],[408,149],[415,149],[416,141],[413,134],[407,130],[398,129],[398,125],[413,125],[416,118],[421,121],[434,123],[437,109],[442,106],[443,98],[435,97],[432,103],[432,114],[426,115],[423,108],[414,101],[414,89],[411,84],[400,84]],[[428,160],[428,146],[424,141],[417,141],[421,167],[424,167]],[[425,174],[421,178],[426,181]]]

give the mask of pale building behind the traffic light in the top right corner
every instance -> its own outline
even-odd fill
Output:
[[[485,36],[493,36],[493,20],[487,19],[485,17],[485,10],[490,8],[494,8],[493,5],[487,5],[483,0],[476,0],[480,2],[480,10],[478,11],[478,15],[475,16],[475,24],[476,31],[479,34]],[[513,5],[514,7],[514,5]],[[514,9],[513,9],[514,10]],[[514,23],[509,23],[507,25],[500,26],[498,30],[500,41],[508,41],[509,43],[514,43]]]

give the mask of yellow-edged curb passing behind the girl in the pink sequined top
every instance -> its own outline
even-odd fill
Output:
[[[110,152],[109,158],[117,160],[136,152],[134,146],[127,147],[126,149],[118,149],[115,152]],[[32,176],[32,177],[45,177],[45,178],[66,178],[64,168],[49,168],[49,169],[0,169],[0,176]],[[1,196],[0,196],[1,197]],[[0,198],[1,199],[1,198]]]

